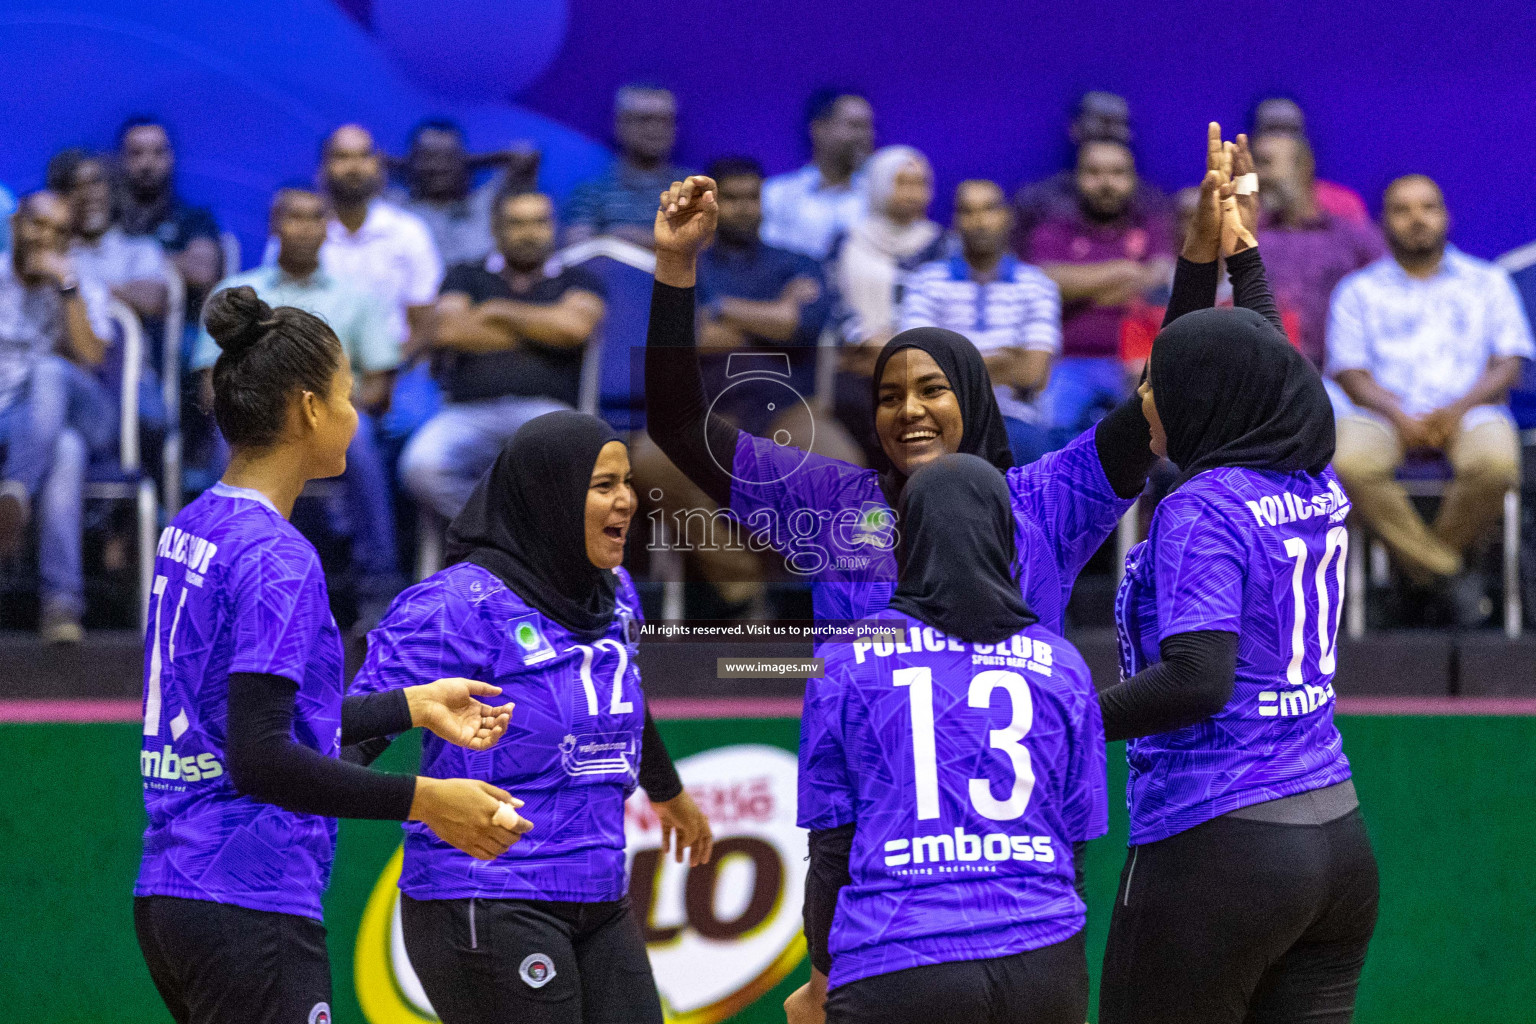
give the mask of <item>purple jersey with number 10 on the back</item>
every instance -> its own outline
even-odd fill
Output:
[[[1210,718],[1127,745],[1132,846],[1350,777],[1333,726],[1347,513],[1332,468],[1209,470],[1158,505],[1115,602],[1121,674],[1218,629],[1238,634],[1236,685]]]

